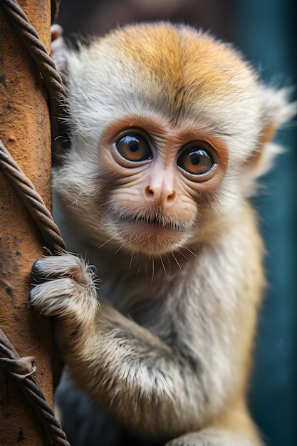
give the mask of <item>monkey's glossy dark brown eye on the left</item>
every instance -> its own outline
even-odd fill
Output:
[[[150,144],[141,135],[129,134],[122,136],[115,142],[115,147],[120,155],[129,161],[140,162],[152,158]]]

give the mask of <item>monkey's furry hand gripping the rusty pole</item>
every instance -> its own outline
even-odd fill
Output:
[[[43,316],[58,317],[58,345],[68,348],[73,333],[88,332],[98,312],[93,272],[83,260],[66,254],[36,260],[31,275],[36,284],[29,304]]]

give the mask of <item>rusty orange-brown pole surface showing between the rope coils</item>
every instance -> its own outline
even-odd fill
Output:
[[[48,48],[51,0],[19,0]],[[46,90],[0,6],[0,138],[51,205],[51,136]],[[0,171],[0,327],[20,356],[36,357],[36,382],[53,403],[49,321],[26,304],[30,270],[43,242],[24,204]],[[0,369],[0,445],[46,445],[40,423],[13,378]]]

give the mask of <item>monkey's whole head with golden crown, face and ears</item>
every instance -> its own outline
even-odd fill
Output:
[[[219,230],[295,113],[234,48],[187,26],[127,26],[61,53],[71,148],[53,183],[98,246],[159,255]]]

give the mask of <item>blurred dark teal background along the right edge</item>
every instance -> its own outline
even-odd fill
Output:
[[[235,35],[264,81],[296,85],[293,1],[234,1]],[[280,76],[281,75],[281,76]],[[296,98],[296,91],[295,91]],[[277,140],[286,152],[264,179],[256,207],[268,254],[251,408],[269,446],[297,445],[297,138],[296,120]]]

